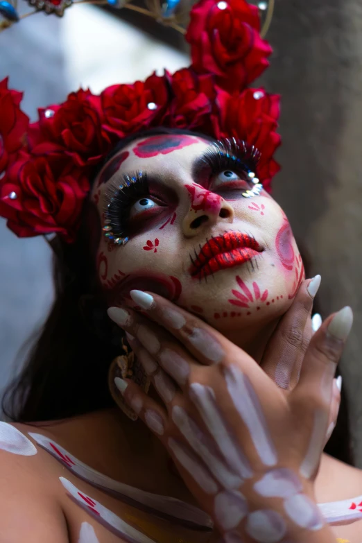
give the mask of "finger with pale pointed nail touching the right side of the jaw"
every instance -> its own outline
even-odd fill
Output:
[[[261,368],[280,388],[291,389],[298,381],[300,365],[311,338],[307,324],[319,286],[320,275],[302,282],[293,304],[266,347]]]

